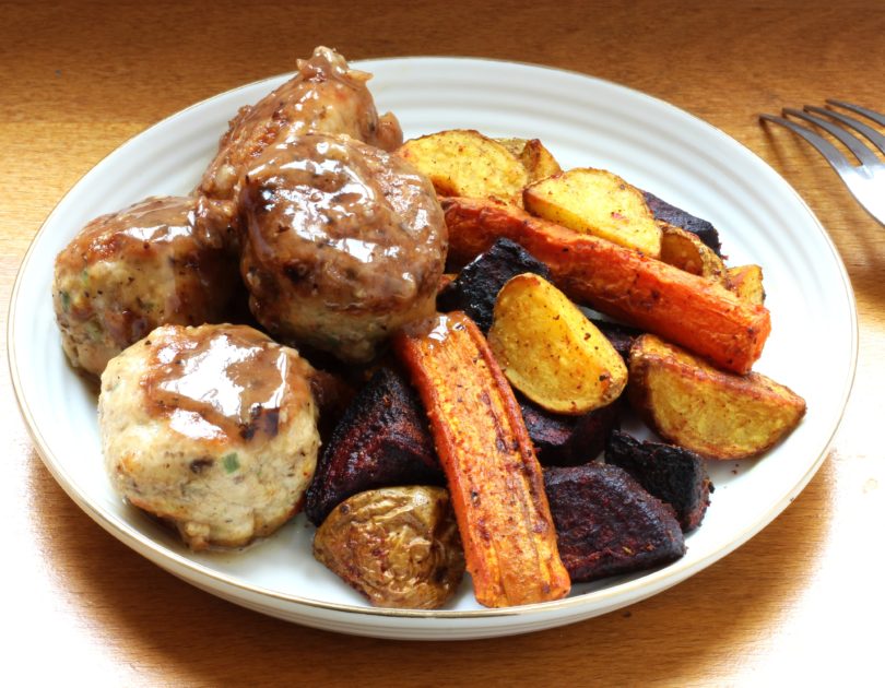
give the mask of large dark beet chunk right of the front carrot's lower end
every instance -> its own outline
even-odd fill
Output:
[[[575,583],[675,561],[685,539],[673,510],[617,466],[544,471],[557,544]]]

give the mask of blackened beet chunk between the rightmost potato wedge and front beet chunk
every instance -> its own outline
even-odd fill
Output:
[[[615,430],[605,446],[606,463],[621,466],[649,493],[673,507],[683,532],[700,525],[710,505],[712,483],[704,459],[660,442],[639,442]]]

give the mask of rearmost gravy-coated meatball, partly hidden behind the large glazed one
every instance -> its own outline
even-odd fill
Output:
[[[307,132],[346,134],[386,151],[402,143],[397,118],[381,117],[366,88],[371,74],[353,70],[334,50],[318,47],[298,60],[290,81],[253,106],[240,108],[222,137],[200,182],[200,213],[212,209],[236,224],[236,200],[245,170],[275,143]]]

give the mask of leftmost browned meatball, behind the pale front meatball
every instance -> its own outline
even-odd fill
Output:
[[[101,375],[161,324],[223,320],[238,283],[194,199],[152,198],[88,223],[56,258],[52,300],[71,363]]]

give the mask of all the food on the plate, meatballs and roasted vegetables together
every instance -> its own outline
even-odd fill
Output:
[[[706,462],[805,412],[752,371],[762,269],[539,140],[403,143],[369,74],[323,46],[297,64],[192,194],[96,217],[56,258],[114,489],[193,550],[303,507],[316,558],[390,607],[442,606],[465,571],[504,607],[683,556]],[[630,407],[663,441],[622,431]]]

